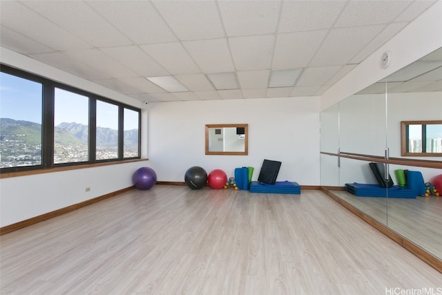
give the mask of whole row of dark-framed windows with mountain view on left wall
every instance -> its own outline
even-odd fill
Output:
[[[0,169],[140,158],[140,109],[1,66]]]

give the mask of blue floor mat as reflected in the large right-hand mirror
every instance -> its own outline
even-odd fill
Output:
[[[394,185],[390,188],[379,187],[378,184],[363,184],[363,183],[346,183],[345,190],[353,193],[358,197],[375,197],[375,198],[405,198],[415,199],[417,196],[414,189],[407,189]]]

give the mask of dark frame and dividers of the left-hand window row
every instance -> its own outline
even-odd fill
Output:
[[[111,162],[133,162],[133,160],[141,159],[141,109],[135,106],[130,106],[122,102],[117,102],[108,97],[103,97],[101,95],[96,95],[95,93],[90,93],[82,89],[63,84],[60,82],[52,81],[28,73],[24,70],[19,70],[17,68],[12,68],[4,64],[0,64],[0,72],[6,73],[8,75],[13,75],[22,79],[28,79],[32,82],[41,83],[42,93],[41,93],[41,164],[33,166],[15,166],[15,167],[4,167],[0,168],[0,173],[15,173],[21,171],[35,171],[41,169],[55,169],[69,166],[90,166],[94,164],[103,164]],[[84,95],[89,98],[89,115],[88,115],[88,161],[84,162],[66,162],[66,163],[54,163],[54,134],[55,134],[55,88],[63,89],[64,91],[70,91],[79,95]],[[112,159],[96,160],[96,119],[97,119],[97,100],[102,102],[107,102],[115,104],[118,107],[118,157]],[[131,111],[138,113],[138,155],[135,157],[124,158],[124,109],[128,108]]]

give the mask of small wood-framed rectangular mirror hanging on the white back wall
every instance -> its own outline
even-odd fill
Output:
[[[206,155],[247,155],[249,124],[206,124]]]

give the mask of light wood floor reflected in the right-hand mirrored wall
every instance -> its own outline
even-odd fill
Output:
[[[442,197],[370,198],[347,191],[333,193],[442,259]]]

